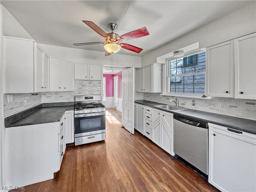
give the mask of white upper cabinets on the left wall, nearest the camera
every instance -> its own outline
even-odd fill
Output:
[[[46,91],[45,54],[34,40],[4,37],[4,93]]]

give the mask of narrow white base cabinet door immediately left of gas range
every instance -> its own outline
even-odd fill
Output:
[[[74,142],[74,111],[65,112],[65,142]]]

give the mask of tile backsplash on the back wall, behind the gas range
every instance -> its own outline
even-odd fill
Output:
[[[42,92],[42,103],[74,102],[76,95],[101,94],[101,81],[75,80],[74,91]]]

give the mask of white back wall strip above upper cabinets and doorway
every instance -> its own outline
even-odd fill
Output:
[[[70,62],[111,66],[111,56],[105,56],[105,52],[60,47],[46,44],[40,44],[40,46],[50,56],[54,56],[56,58],[60,58]],[[140,67],[141,58],[138,56],[113,54],[113,66]]]

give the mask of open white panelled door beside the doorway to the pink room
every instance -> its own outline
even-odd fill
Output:
[[[134,67],[122,74],[122,126],[134,134]]]

